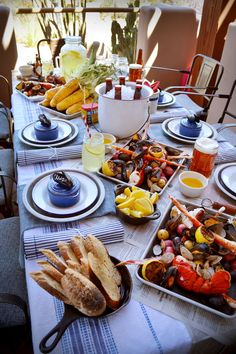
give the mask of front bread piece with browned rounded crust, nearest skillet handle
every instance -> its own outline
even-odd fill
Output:
[[[106,300],[101,291],[82,274],[68,268],[61,285],[72,305],[83,314],[99,316],[105,311]]]

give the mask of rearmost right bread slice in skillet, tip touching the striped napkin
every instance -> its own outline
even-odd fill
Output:
[[[121,284],[121,275],[114,266],[111,261],[111,258],[107,252],[106,247],[103,243],[98,240],[93,235],[88,235],[87,238],[84,240],[85,248],[87,252],[91,252],[94,254],[96,258],[99,259],[100,266],[101,263],[108,269],[111,277],[114,279],[117,285]]]

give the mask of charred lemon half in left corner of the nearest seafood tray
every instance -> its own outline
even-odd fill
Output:
[[[165,273],[165,265],[159,260],[150,259],[142,265],[142,277],[155,284],[160,284]]]

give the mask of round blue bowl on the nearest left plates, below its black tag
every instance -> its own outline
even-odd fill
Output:
[[[71,177],[73,186],[68,189],[55,182],[52,176],[47,185],[49,199],[52,204],[67,208],[75,205],[80,198],[80,181],[76,177]]]

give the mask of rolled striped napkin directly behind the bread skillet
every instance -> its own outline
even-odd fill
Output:
[[[39,233],[37,229],[31,229],[24,233],[24,253],[27,259],[42,257],[40,248],[50,248],[52,251],[58,249],[57,242],[68,242],[75,235],[86,236],[93,234],[104,244],[124,241],[124,228],[120,221],[105,223],[93,227],[78,226],[71,227],[65,231]]]

